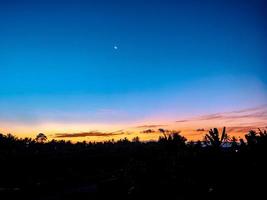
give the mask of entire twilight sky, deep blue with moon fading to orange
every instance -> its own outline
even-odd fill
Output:
[[[266,128],[266,13],[264,0],[0,0],[0,132]]]

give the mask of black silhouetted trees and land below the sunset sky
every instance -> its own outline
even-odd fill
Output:
[[[267,199],[267,133],[211,130],[157,142],[45,142],[0,135],[0,199]]]

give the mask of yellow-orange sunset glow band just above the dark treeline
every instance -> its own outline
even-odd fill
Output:
[[[211,128],[226,127],[230,136],[244,137],[249,130],[257,128],[266,129],[267,106],[246,109],[241,111],[226,112],[202,115],[180,120],[157,120],[146,119],[135,123],[51,123],[45,122],[36,125],[1,123],[0,132],[12,133],[19,138],[35,138],[38,133],[44,133],[48,139],[71,140],[71,141],[107,141],[119,140],[127,137],[132,140],[139,137],[140,140],[157,140],[162,136],[157,130],[163,128],[166,130],[179,131],[181,135],[188,140],[202,140],[204,135]],[[142,133],[144,130],[151,129],[151,133]],[[57,137],[63,134],[66,137]],[[68,134],[71,134],[69,136]],[[82,135],[83,137],[78,137]]]

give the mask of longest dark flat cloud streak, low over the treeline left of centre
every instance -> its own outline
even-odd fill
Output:
[[[124,132],[115,131],[115,132],[101,132],[101,131],[89,131],[89,132],[80,132],[80,133],[56,133],[55,138],[74,138],[74,137],[108,137],[115,135],[122,135]]]

